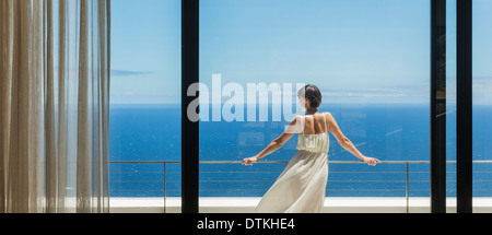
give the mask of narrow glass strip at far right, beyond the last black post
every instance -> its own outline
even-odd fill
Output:
[[[487,198],[492,196],[492,2],[476,0],[472,4],[473,212],[485,212]]]

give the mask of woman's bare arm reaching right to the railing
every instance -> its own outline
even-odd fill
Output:
[[[376,165],[376,163],[380,163],[379,160],[376,160],[374,157],[367,157],[364,156],[359,150],[353,145],[353,143],[347,138],[342,131],[340,130],[340,127],[338,127],[337,121],[335,121],[333,116],[331,116],[330,113],[327,113],[326,115],[327,122],[328,122],[328,129],[333,133],[335,138],[337,139],[338,143],[343,146],[347,151],[352,153],[354,156],[360,158],[362,162],[367,163],[368,165]]]

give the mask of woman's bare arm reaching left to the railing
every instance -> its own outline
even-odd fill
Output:
[[[285,130],[282,132],[282,134],[280,134],[280,137],[278,137],[273,141],[271,141],[271,143],[268,144],[268,146],[265,148],[265,150],[262,150],[261,152],[259,152],[255,156],[244,158],[242,164],[244,164],[244,165],[253,165],[253,163],[258,162],[259,160],[263,158],[268,154],[273,153],[274,151],[280,149],[298,130],[300,125],[298,125],[298,121],[297,121],[297,117],[298,116],[295,116],[291,120],[289,126],[285,128]]]

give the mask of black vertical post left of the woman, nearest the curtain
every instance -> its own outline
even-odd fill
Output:
[[[187,116],[188,87],[198,78],[198,3],[181,0],[181,212],[198,213],[198,121]]]

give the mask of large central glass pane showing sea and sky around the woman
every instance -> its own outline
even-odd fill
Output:
[[[363,154],[385,161],[351,162],[359,160],[330,133],[324,212],[388,199],[401,212],[407,204],[429,212],[429,38],[427,0],[201,1],[200,212],[225,210],[218,197],[253,212],[297,153],[298,136],[262,163],[241,161],[304,114],[298,84],[317,85],[318,110],[329,111]]]

